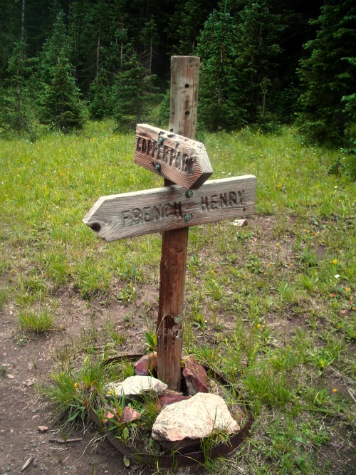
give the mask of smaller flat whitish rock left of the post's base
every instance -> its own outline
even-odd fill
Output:
[[[105,389],[108,394],[110,392],[117,397],[125,396],[130,399],[130,397],[139,396],[142,392],[150,392],[158,396],[167,389],[167,385],[152,376],[136,375],[127,377],[122,382],[110,382]]]

